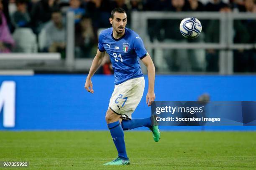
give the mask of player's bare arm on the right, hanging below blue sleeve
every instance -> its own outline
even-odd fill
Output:
[[[155,75],[156,75],[155,66],[148,53],[146,57],[143,57],[141,59],[141,61],[144,63],[144,65],[146,65],[148,70],[148,93],[146,95],[146,104],[148,106],[151,106],[151,103],[156,98],[156,95],[154,93]]]

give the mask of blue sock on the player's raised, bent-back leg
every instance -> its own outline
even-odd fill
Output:
[[[131,130],[134,128],[139,128],[142,126],[151,127],[151,117],[145,119],[132,119],[132,120],[122,120],[122,128],[123,130]]]

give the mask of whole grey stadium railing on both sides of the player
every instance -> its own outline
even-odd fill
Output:
[[[191,50],[219,50],[219,72],[221,75],[233,74],[233,50],[252,50],[256,48],[256,44],[233,43],[234,20],[256,20],[256,14],[252,13],[219,13],[219,12],[203,12],[203,13],[172,13],[172,12],[138,12],[134,11],[131,15],[131,29],[138,32],[144,41],[144,44],[154,59],[156,67],[161,68],[164,63],[163,50],[166,49],[191,49]],[[182,20],[186,17],[196,17],[199,20],[219,20],[219,42],[151,42],[148,35],[148,20]],[[179,29],[179,25],[174,25]],[[89,71],[93,58],[76,58],[74,52],[74,14],[67,13],[67,48],[66,58],[61,60],[59,54],[54,53],[10,53],[1,54],[0,70],[6,69],[31,69],[31,70],[60,70],[60,71]],[[202,25],[202,36],[205,31],[205,25]],[[202,53],[205,54],[205,53]],[[20,57],[22,55],[22,57]],[[58,56],[57,56],[58,55]],[[13,57],[10,57],[13,56]],[[16,57],[15,57],[16,56]],[[41,57],[38,57],[41,56]],[[53,57],[55,56],[55,57]],[[33,60],[31,60],[31,58]],[[205,58],[205,55],[201,56]],[[17,62],[18,61],[18,62]],[[33,62],[33,63],[32,63]],[[32,63],[32,64],[31,64]],[[202,64],[203,65],[203,64]],[[145,66],[142,65],[143,72],[146,73]],[[194,73],[194,72],[170,72],[157,70],[161,73]],[[206,70],[197,72],[207,74]]]

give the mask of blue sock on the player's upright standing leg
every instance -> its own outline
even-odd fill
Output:
[[[118,150],[118,156],[120,158],[128,159],[125,149],[124,133],[119,121],[109,123],[108,128],[112,136],[115,148]]]

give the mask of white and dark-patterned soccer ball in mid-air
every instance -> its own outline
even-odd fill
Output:
[[[183,37],[194,39],[200,35],[202,25],[197,18],[184,18],[179,25],[179,30]]]

